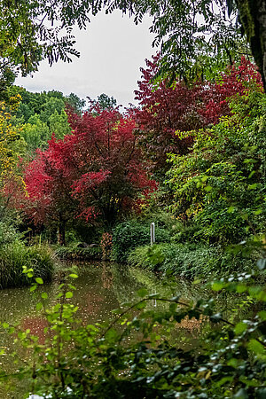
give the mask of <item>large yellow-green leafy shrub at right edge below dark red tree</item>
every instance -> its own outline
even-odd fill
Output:
[[[265,220],[265,95],[246,92],[231,102],[232,115],[195,133],[191,153],[172,155],[168,184],[176,215],[200,225],[198,239],[238,242]]]

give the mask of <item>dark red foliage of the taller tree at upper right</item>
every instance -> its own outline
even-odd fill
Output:
[[[227,98],[242,95],[249,82],[262,85],[261,76],[255,67],[242,59],[240,66],[231,66],[221,74],[219,82],[195,82],[187,86],[176,81],[160,82],[154,90],[153,78],[158,72],[159,54],[152,61],[146,60],[146,69],[141,69],[142,81],[136,99],[140,108],[135,112],[137,141],[144,149],[153,170],[168,168],[167,153],[184,154],[192,145],[192,137],[180,139],[176,130],[191,131],[217,123],[219,118],[230,113]]]

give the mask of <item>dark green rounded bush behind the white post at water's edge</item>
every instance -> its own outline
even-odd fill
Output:
[[[148,245],[150,240],[150,222],[129,221],[118,224],[113,230],[113,260],[127,262],[132,249]],[[168,242],[170,231],[165,227],[156,227],[155,240],[157,243]]]

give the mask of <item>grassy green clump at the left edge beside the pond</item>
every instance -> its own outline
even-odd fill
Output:
[[[32,280],[23,273],[23,266],[34,270],[35,278],[51,281],[54,258],[46,246],[25,246],[17,242],[0,248],[0,287],[30,285]]]

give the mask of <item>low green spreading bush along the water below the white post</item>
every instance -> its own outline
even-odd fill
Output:
[[[219,246],[187,243],[140,246],[130,252],[128,262],[131,266],[171,271],[185,278],[228,275],[233,271],[250,270],[253,264],[251,259],[224,252]]]

